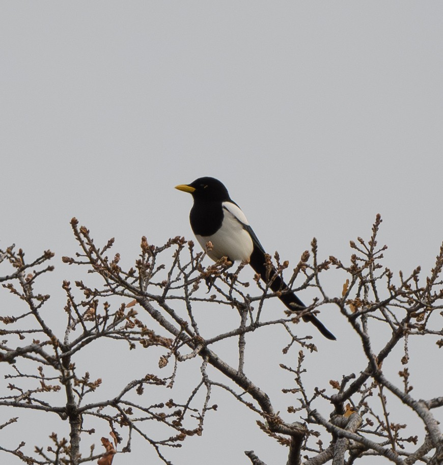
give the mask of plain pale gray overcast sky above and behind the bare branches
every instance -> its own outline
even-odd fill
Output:
[[[432,1],[2,2],[0,246],[56,252],[60,289],[72,216],[131,262],[142,235],[192,238],[191,199],[174,186],[214,176],[291,265],[313,236],[347,260],[379,212],[386,266],[430,269],[443,238],[442,18]],[[340,338],[336,318],[322,314]],[[334,350],[345,357],[346,339]],[[236,434],[220,463],[279,453]],[[202,460],[216,439],[207,426],[181,453]]]

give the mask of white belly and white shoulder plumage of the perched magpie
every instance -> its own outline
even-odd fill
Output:
[[[230,260],[247,261],[251,257],[254,243],[251,235],[244,229],[247,220],[244,213],[237,205],[231,202],[223,202],[223,224],[221,228],[211,236],[196,234],[197,240],[204,250],[206,243],[212,242],[212,250],[207,253],[212,260],[228,257]]]

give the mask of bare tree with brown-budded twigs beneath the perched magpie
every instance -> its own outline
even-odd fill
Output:
[[[110,465],[115,454],[131,451],[131,440],[137,435],[162,461],[170,463],[165,449],[180,447],[187,437],[202,434],[206,414],[217,408],[211,403],[211,394],[214,389],[222,389],[256,415],[263,433],[288,448],[288,465],[328,461],[351,464],[368,456],[384,457],[386,462],[399,465],[443,463],[443,437],[435,416],[436,409],[443,406],[443,393],[431,399],[413,397],[408,366],[412,339],[443,346],[443,245],[425,280],[420,279],[420,268],[407,277],[400,273],[394,278],[393,272],[382,265],[385,247],[377,246],[380,223],[377,215],[368,241],[351,241],[349,266],[335,257],[319,259],[314,239],[311,253],[302,254],[289,285],[297,292],[314,288],[318,298],[303,313],[282,312],[276,319],[265,318],[267,313],[262,311],[267,300],[276,296],[270,283],[263,286],[256,276],[256,290],[251,291],[255,295],[250,295],[252,286],[243,281],[243,265],[231,273],[223,260],[205,267],[204,254],[196,253],[191,241],[175,237],[162,247],[154,247],[143,237],[140,256],[134,266],[124,269],[118,253],[109,255],[114,240],[97,247],[88,229],[78,227],[73,218],[71,225],[80,252],[63,261],[86,267],[90,274],[75,282],[76,290],[70,282],[63,282],[66,324],[59,327],[47,310],[49,295],[36,291],[36,280],[53,269],[47,265],[53,254],[46,251],[28,263],[22,250],[10,247],[0,251],[0,263],[10,266],[0,281],[26,306],[9,316],[3,306],[0,308],[4,338],[0,361],[4,367],[10,364],[0,388],[4,418],[0,421],[0,455],[12,454],[29,464],[77,465],[94,460]],[[282,275],[289,264],[275,254],[274,263],[269,257],[268,266]],[[334,269],[343,274],[343,291],[329,297],[321,281]],[[203,292],[209,282],[211,295]],[[296,282],[302,284],[296,287]],[[228,306],[238,312],[239,323],[230,331],[205,337],[195,310],[202,305]],[[349,332],[358,336],[366,364],[350,373],[342,373],[337,364],[336,379],[310,391],[304,383],[309,376],[306,356],[317,347],[310,337],[297,336],[306,325],[296,323],[303,314],[317,313],[325,305],[335,306],[348,322]],[[283,332],[280,341],[284,353],[295,350],[297,354],[294,366],[280,366],[294,379],[292,387],[282,387],[289,396],[285,414],[276,412],[272,395],[247,374],[245,335],[260,335],[269,327]],[[380,333],[380,327],[384,333]],[[378,337],[381,348],[377,350],[374,334],[387,335],[381,343]],[[227,339],[237,346],[235,366],[214,351],[217,342]],[[144,357],[154,360],[156,369],[136,379],[125,379],[124,369],[117,366],[119,382],[105,389],[100,378],[91,379],[88,370],[80,368],[85,366],[85,359],[88,361],[83,354],[90,353],[90,348],[97,352],[95,347],[104,340],[116,347],[113,350],[120,350],[119,344],[129,350],[143,347],[148,350]],[[401,348],[404,366],[400,373],[383,368],[387,359],[398,357],[396,347]],[[179,371],[183,372],[178,367],[196,362],[200,375],[184,400],[170,398],[171,388],[180,382]],[[161,376],[162,370],[168,374]],[[441,370],[430,370],[429,383],[441,389]],[[163,400],[147,405],[143,396],[146,391],[155,393],[149,398]],[[105,395],[98,398],[100,392]],[[389,411],[393,398],[416,416],[413,435],[404,434],[406,425],[393,419],[395,415]],[[15,410],[10,413],[11,409]],[[25,442],[30,441],[26,438],[13,447],[3,446],[2,430],[18,421],[18,412],[23,409],[55,414],[69,424],[69,437],[48,433],[49,446],[36,446],[32,454],[24,452]],[[95,437],[91,425],[100,422],[106,424],[113,441],[103,437],[104,450],[80,448],[80,439]],[[253,451],[245,454],[255,465],[264,463]]]

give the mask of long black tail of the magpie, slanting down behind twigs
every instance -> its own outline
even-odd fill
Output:
[[[265,256],[255,243],[254,243],[254,250],[251,254],[249,263],[254,268],[255,272],[261,276],[262,280],[266,282]],[[274,278],[274,276],[275,276],[275,271],[271,269],[269,273],[269,277]],[[280,276],[275,276],[274,280],[272,281],[270,285],[270,288],[274,292],[284,290],[287,287],[288,286],[280,278]],[[301,302],[301,300],[293,292],[282,294],[279,298],[286,305],[286,307],[289,310],[291,310],[291,312],[296,312],[297,309],[303,310],[306,308],[306,305],[304,305]],[[310,323],[312,323],[325,338],[331,339],[333,341],[336,340],[336,337],[329,330],[327,330],[326,327],[323,325],[323,323],[320,320],[318,320],[314,315],[303,316],[303,321],[309,321]]]

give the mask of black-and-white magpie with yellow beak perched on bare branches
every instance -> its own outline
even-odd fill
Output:
[[[198,242],[214,261],[226,257],[228,261],[249,263],[291,312],[306,309],[294,292],[281,292],[288,288],[275,269],[266,265],[265,251],[256,234],[248,223],[241,208],[231,199],[226,186],[212,177],[198,178],[190,184],[179,184],[176,189],[192,195],[193,205],[189,213],[192,232]],[[207,248],[208,242],[212,248]],[[314,315],[303,315],[308,321],[330,340],[336,337],[326,329]]]

